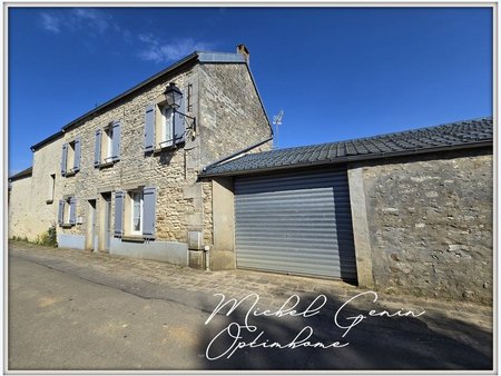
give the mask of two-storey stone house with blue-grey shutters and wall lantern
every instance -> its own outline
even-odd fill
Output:
[[[171,82],[177,111],[166,105]],[[43,218],[37,231],[57,221],[61,247],[202,266],[212,187],[198,172],[272,139],[247,49],[194,52],[33,146],[31,185],[52,184],[52,201],[37,196],[40,210],[11,212],[11,234],[31,226],[18,220],[28,212]]]

